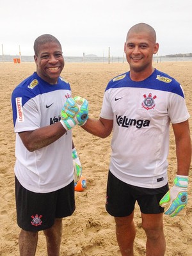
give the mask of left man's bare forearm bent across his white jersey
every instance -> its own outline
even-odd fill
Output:
[[[35,131],[19,132],[19,136],[24,146],[30,152],[33,152],[40,148],[47,147],[65,133],[66,130],[61,122],[57,122],[56,124],[41,127]]]

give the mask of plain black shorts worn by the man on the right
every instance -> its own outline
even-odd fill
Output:
[[[162,188],[140,188],[117,179],[110,171],[106,196],[106,210],[111,216],[125,217],[134,211],[136,201],[145,214],[164,212],[159,201],[168,191],[168,184]]]

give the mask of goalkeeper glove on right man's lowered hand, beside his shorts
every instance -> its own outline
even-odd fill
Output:
[[[166,207],[164,214],[177,216],[188,203],[188,176],[177,175],[173,187],[161,198],[159,205]]]

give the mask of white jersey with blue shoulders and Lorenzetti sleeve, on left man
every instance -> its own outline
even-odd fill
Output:
[[[71,95],[70,85],[61,77],[49,84],[36,72],[13,90],[13,124],[16,132],[15,175],[29,191],[49,193],[67,186],[73,180],[72,133],[51,145],[29,152],[18,132],[34,131],[60,121],[60,112]]]

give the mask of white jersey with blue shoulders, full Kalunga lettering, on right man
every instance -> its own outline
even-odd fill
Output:
[[[133,186],[164,186],[170,122],[189,118],[180,84],[158,70],[139,82],[122,74],[109,82],[100,117],[113,120],[111,173]]]

